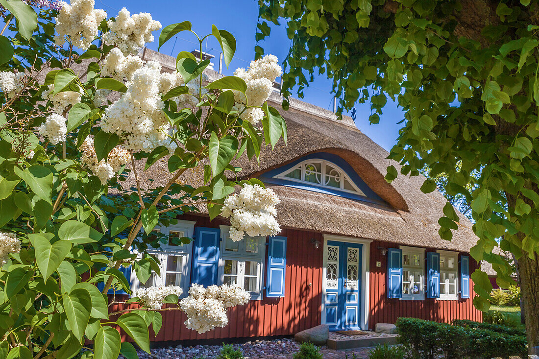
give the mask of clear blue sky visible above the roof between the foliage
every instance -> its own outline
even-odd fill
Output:
[[[165,0],[95,0],[95,8],[107,11],[108,16],[116,16],[118,11],[126,7],[132,14],[149,12],[152,17],[161,22],[163,26],[189,20],[193,30],[199,36],[211,32],[211,25],[224,29],[233,34],[237,40],[236,55],[225,74],[232,74],[237,67],[247,67],[254,57],[255,32],[258,20],[258,5],[255,0],[205,0],[205,1],[165,1]],[[148,47],[157,50],[157,38],[160,31],[154,32],[156,41]],[[196,43],[196,44],[195,44]],[[272,26],[269,39],[261,42],[265,53],[272,53],[280,60],[286,57],[290,40],[286,36],[285,26]],[[181,32],[177,39],[170,39],[161,47],[161,52],[176,56],[179,51],[198,49],[194,34]],[[204,43],[203,51],[219,58],[220,47],[215,38],[210,37]],[[333,109],[333,94],[331,82],[326,77],[317,77],[311,86],[305,89],[303,100],[317,106]],[[370,106],[368,103],[356,106],[356,125],[363,133],[371,137],[386,150],[391,149],[396,142],[398,130],[402,125],[397,122],[403,119],[403,114],[389,101],[384,109],[378,125],[369,124]]]

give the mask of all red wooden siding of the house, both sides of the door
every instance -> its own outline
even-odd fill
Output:
[[[182,219],[196,221],[196,226],[218,227],[219,222],[210,222],[208,217],[184,216]],[[317,326],[321,322],[322,304],[322,254],[323,246],[315,248],[312,239],[323,243],[321,233],[284,229],[281,236],[287,237],[287,263],[285,298],[265,298],[252,300],[245,306],[230,308],[229,324],[204,334],[187,329],[185,315],[180,310],[161,312],[163,326],[153,341],[176,341],[198,339],[224,339],[232,337],[281,336],[292,335],[301,330]],[[378,247],[398,247],[395,243],[373,241],[370,245],[370,285],[369,285],[369,327],[376,323],[394,323],[398,317],[418,317],[439,322],[453,319],[481,321],[481,312],[474,308],[471,299],[402,301],[386,296],[387,254],[382,256]],[[427,248],[434,251],[434,248]],[[267,248],[266,248],[267,252]],[[267,257],[267,256],[266,256]],[[376,267],[376,262],[381,262]],[[477,267],[470,260],[470,273]],[[266,265],[263,280],[266,280]],[[460,284],[459,284],[460,285]],[[120,306],[111,307],[111,312]],[[125,339],[125,335],[122,335]]]

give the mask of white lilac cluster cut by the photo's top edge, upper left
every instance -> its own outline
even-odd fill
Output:
[[[73,46],[85,51],[98,34],[99,24],[107,17],[102,9],[94,9],[94,0],[71,0],[71,4],[59,2],[61,6],[56,26],[56,45],[63,46],[66,37]]]

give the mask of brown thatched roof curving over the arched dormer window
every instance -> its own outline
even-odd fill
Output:
[[[144,52],[144,58],[159,59],[163,64],[175,63],[174,58],[150,50]],[[218,76],[215,71],[209,71],[208,75],[210,79]],[[273,93],[269,102],[286,119],[287,146],[281,140],[273,151],[269,147],[262,148],[260,165],[249,161],[245,155],[241,157],[235,163],[243,169],[241,177],[257,177],[301,156],[323,151],[342,157],[389,204],[371,204],[269,184],[281,198],[277,208],[281,226],[464,252],[475,244],[477,238],[472,224],[460,214],[459,230],[453,231],[453,239],[440,239],[438,219],[443,216],[445,197],[438,191],[421,192],[425,179],[422,176],[400,175],[388,184],[384,179],[386,168],[393,164],[399,169],[399,165],[386,159],[388,152],[357,129],[351,118],[344,116],[343,120],[337,120],[332,112],[295,99],[291,99],[288,111],[284,111],[281,100],[278,93]],[[143,164],[137,167],[142,172]],[[162,185],[168,176],[167,162],[163,158],[141,174],[141,181],[143,187]],[[202,185],[202,178],[203,170],[199,167],[186,171],[179,180]],[[126,188],[133,184],[131,175]]]

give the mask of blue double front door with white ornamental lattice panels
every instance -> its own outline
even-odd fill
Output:
[[[361,244],[328,241],[324,311],[329,330],[360,329]]]

